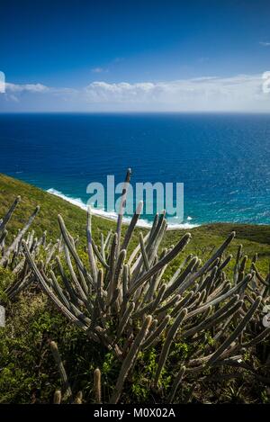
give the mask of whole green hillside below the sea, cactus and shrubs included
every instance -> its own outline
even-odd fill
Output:
[[[171,230],[159,245],[165,228],[160,217],[149,240],[143,239],[148,230],[139,229],[130,239],[129,258],[140,241],[130,284],[117,236],[104,250],[100,240],[115,231],[115,223],[92,218],[96,246],[90,241],[87,254],[85,211],[0,175],[0,216],[18,194],[22,202],[6,226],[2,256],[38,203],[40,212],[31,225],[35,233],[0,265],[0,301],[7,316],[6,327],[0,328],[0,402],[67,401],[70,391],[77,403],[269,401],[268,331],[261,324],[269,300],[268,226],[202,226],[191,230],[191,241],[184,230]],[[229,236],[232,230],[237,240]],[[122,241],[126,228],[119,233]],[[205,264],[226,238],[218,256]],[[171,248],[171,256],[164,248]],[[94,263],[90,272],[88,255]],[[169,289],[164,282],[181,264],[176,279],[182,277],[183,283],[172,282]],[[158,283],[149,295],[155,274]],[[125,277],[127,290],[122,288]]]

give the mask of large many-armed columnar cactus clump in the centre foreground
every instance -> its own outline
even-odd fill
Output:
[[[23,250],[33,276],[57,309],[83,329],[91,341],[101,343],[121,361],[111,402],[120,400],[123,384],[136,365],[139,351],[159,344],[161,352],[152,380],[157,390],[175,343],[181,340],[193,345],[193,355],[181,362],[172,382],[169,400],[174,400],[177,387],[185,377],[191,380],[203,377],[205,369],[219,365],[241,366],[245,350],[266,339],[269,328],[262,325],[262,311],[269,301],[270,277],[265,280],[258,273],[256,259],[247,272],[247,257],[239,247],[232,280],[228,278],[225,272],[232,260],[227,254],[235,238],[232,232],[206,263],[202,264],[198,256],[187,256],[165,283],[167,266],[182,253],[191,234],[184,234],[174,247],[160,250],[166,233],[166,218],[162,213],[156,216],[146,235],[139,235],[138,245],[131,251],[130,239],[142,203],[122,235],[129,180],[130,170],[123,187],[116,232],[109,233],[105,240],[102,236],[100,247],[92,236],[91,210],[88,210],[88,265],[79,256],[76,242],[61,216],[58,222],[64,252],[56,258],[56,269],[49,273],[42,271],[26,240],[22,241]],[[63,261],[66,261],[65,271]],[[209,333],[212,344],[207,343]],[[245,368],[248,371],[248,365]],[[254,373],[252,368],[249,371]]]

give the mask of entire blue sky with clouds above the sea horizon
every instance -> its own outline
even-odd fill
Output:
[[[0,112],[270,112],[269,0],[0,0],[0,11]]]

